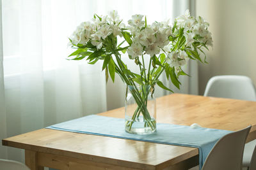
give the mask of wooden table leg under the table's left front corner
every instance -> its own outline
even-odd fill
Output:
[[[44,170],[44,167],[37,164],[37,153],[32,150],[25,150],[25,164],[31,170]]]

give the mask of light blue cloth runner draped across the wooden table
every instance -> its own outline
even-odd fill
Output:
[[[153,134],[129,134],[124,130],[123,118],[102,117],[99,115],[89,115],[46,128],[198,148],[200,169],[216,141],[231,132],[204,127],[192,128],[185,125],[157,124],[157,132]]]

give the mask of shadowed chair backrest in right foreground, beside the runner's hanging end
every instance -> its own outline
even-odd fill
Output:
[[[220,138],[204,162],[202,170],[241,170],[244,144],[251,126]]]

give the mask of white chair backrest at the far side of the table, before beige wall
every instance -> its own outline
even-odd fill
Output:
[[[256,90],[247,76],[214,76],[208,81],[204,96],[256,101]]]

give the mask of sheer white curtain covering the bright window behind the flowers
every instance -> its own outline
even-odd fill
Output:
[[[188,8],[188,0],[2,0],[1,139],[123,106],[124,85],[120,79],[106,85],[102,63],[66,60],[72,51],[68,36],[81,22],[110,10],[117,10],[124,22],[135,13],[147,15],[148,23],[172,21]],[[186,66],[193,77],[182,78],[180,92],[196,94],[196,69]],[[19,149],[0,146],[0,158],[24,161],[23,155]]]

